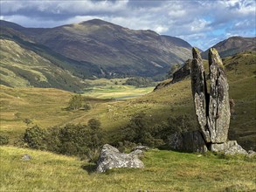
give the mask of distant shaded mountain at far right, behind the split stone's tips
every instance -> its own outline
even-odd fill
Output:
[[[256,51],[256,38],[232,37],[212,46],[217,49],[219,56],[225,58],[241,51]],[[208,50],[201,53],[202,58],[208,58]]]

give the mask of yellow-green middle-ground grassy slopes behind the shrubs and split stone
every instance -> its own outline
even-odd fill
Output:
[[[234,99],[236,104],[235,113],[232,114],[229,138],[238,140],[239,144],[246,149],[256,148],[255,65],[254,52],[244,52],[232,58],[225,58],[230,98]],[[109,88],[114,82],[108,83]],[[97,92],[95,91],[92,95],[106,97],[109,89],[105,90],[103,95],[99,90]],[[88,99],[92,105],[89,111],[66,111],[65,108],[71,96],[72,93],[56,89],[13,89],[1,86],[1,133],[9,134],[10,137],[13,137],[14,133],[16,135],[22,133],[26,127],[23,122],[25,118],[31,119],[40,127],[65,125],[68,122],[86,123],[91,118],[97,118],[102,127],[111,131],[113,136],[116,136],[116,130],[125,127],[136,113],[146,113],[151,122],[150,126],[161,125],[168,118],[183,114],[190,115],[193,124],[197,121],[190,93],[190,79],[184,79],[156,92],[127,101]],[[119,97],[118,94],[117,97]],[[190,127],[190,129],[195,128],[197,127]]]

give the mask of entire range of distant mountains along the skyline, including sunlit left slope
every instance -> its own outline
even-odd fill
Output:
[[[226,57],[255,51],[255,39],[232,37],[213,47]],[[86,86],[83,79],[163,77],[170,65],[191,58],[191,45],[181,38],[99,19],[55,28],[25,28],[0,20],[0,40],[0,83],[7,86],[80,91]],[[205,51],[201,54],[207,58]],[[35,58],[40,62],[30,61]]]

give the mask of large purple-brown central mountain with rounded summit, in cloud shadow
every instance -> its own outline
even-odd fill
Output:
[[[100,65],[103,74],[152,77],[191,58],[191,46],[180,38],[133,31],[99,19],[52,29],[24,28],[4,21],[1,26],[68,58]]]

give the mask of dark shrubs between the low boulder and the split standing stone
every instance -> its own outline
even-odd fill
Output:
[[[137,113],[131,118],[127,127],[123,127],[119,133],[119,140],[115,145],[120,145],[120,141],[142,143],[149,147],[161,147],[168,142],[168,136],[175,133],[187,132],[192,127],[192,119],[188,115],[170,117],[168,121],[161,124],[152,125],[151,119],[145,113]]]

